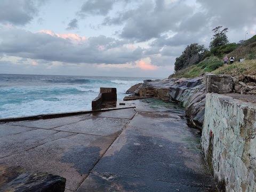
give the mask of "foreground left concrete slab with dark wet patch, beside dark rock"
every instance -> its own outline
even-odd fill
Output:
[[[108,137],[76,134],[0,158],[0,163],[60,175],[67,179],[66,189],[75,191],[113,141]]]

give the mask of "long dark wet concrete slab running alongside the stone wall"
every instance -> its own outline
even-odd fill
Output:
[[[218,191],[185,114],[139,111],[77,191]]]

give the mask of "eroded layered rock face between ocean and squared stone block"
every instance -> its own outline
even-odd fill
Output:
[[[206,93],[202,76],[145,81],[138,90],[135,94],[137,93],[139,97],[181,102],[193,125],[202,127]]]

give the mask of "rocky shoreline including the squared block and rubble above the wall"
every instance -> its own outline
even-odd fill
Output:
[[[207,83],[206,83],[207,81]],[[236,97],[256,92],[256,78],[232,77],[230,75],[203,74],[196,78],[166,78],[146,80],[132,86],[124,100],[156,98],[166,101],[178,101],[186,110],[193,126],[202,129],[205,113],[205,95],[207,92],[236,93]],[[250,96],[249,96],[250,97]],[[248,97],[241,97],[246,100]]]

